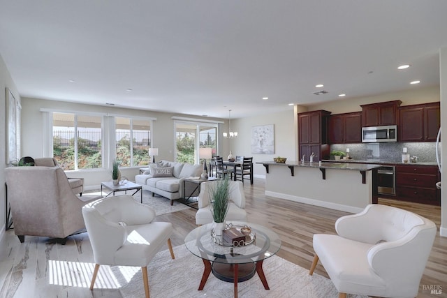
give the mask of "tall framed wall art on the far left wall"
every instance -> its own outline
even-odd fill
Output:
[[[6,88],[6,163],[17,161],[17,127],[15,115],[15,97]]]

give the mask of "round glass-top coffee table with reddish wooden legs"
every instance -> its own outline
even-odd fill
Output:
[[[251,228],[251,234],[246,237],[241,246],[227,244],[216,237],[213,223],[201,225],[186,235],[184,239],[186,248],[193,255],[201,258],[205,265],[198,290],[203,290],[211,272],[222,281],[234,283],[235,297],[237,297],[237,283],[249,280],[256,273],[265,290],[270,289],[263,271],[263,262],[279,251],[281,240],[277,233],[262,225],[243,222],[226,223],[227,228],[237,230],[244,226]]]

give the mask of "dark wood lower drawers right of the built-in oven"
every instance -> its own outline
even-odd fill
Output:
[[[397,165],[396,198],[409,202],[441,205],[441,192],[436,187],[441,177],[437,166]]]

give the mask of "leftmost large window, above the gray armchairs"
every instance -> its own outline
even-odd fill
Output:
[[[53,113],[53,156],[64,170],[102,167],[102,117]]]

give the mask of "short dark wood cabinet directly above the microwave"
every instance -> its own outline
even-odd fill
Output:
[[[402,101],[393,100],[386,103],[371,103],[362,107],[362,126],[396,125],[397,110]]]

